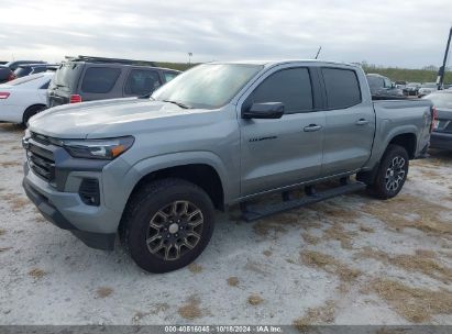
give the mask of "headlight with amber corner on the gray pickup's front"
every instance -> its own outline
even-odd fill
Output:
[[[128,151],[134,142],[134,137],[119,137],[107,140],[63,140],[63,147],[76,158],[108,159]]]

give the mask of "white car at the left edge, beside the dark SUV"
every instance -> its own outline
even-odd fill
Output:
[[[40,73],[0,85],[0,122],[26,125],[46,109],[47,88],[54,73]]]

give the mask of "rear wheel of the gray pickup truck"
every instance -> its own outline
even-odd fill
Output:
[[[409,157],[407,151],[390,144],[378,165],[374,182],[371,185],[371,193],[379,199],[390,199],[404,187],[408,175]]]

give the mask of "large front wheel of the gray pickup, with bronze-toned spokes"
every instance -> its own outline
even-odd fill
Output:
[[[214,209],[198,186],[162,179],[142,187],[130,200],[120,238],[139,267],[167,272],[194,261],[209,243]]]

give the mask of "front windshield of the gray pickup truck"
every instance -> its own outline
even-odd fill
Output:
[[[164,85],[152,94],[189,108],[214,109],[227,104],[263,68],[262,65],[199,65]]]

